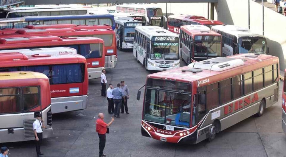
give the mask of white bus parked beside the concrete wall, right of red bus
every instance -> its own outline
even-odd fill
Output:
[[[234,25],[212,26],[222,36],[223,57],[240,53],[268,54],[266,38],[249,29]]]

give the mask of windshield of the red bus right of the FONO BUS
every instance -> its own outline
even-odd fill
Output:
[[[194,57],[218,57],[221,55],[220,36],[195,36]]]

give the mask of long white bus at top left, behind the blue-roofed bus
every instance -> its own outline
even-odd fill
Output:
[[[0,18],[21,18],[24,16],[84,15],[87,13],[88,10],[84,8],[3,10],[0,11]]]

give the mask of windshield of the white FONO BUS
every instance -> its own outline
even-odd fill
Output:
[[[176,37],[166,37],[171,40],[156,40],[151,43],[150,58],[153,60],[178,60],[179,59],[179,42]],[[163,37],[164,38],[164,37]]]

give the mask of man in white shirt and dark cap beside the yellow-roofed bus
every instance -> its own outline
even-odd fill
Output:
[[[41,121],[41,114],[38,113],[36,114],[36,120],[33,123],[33,128],[34,128],[34,133],[35,133],[35,138],[36,138],[36,151],[37,151],[37,156],[41,157],[44,155],[41,153],[41,144],[42,144],[42,139],[43,139],[43,123]]]

